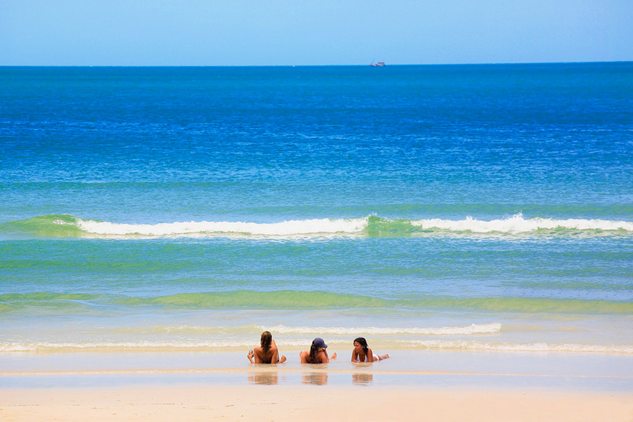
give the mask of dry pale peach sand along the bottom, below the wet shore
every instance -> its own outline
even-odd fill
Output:
[[[633,394],[316,385],[4,390],[3,421],[633,421]]]

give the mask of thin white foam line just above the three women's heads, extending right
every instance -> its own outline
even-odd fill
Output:
[[[323,335],[390,335],[390,334],[417,334],[417,335],[469,335],[469,334],[491,334],[501,331],[501,324],[498,322],[492,324],[471,324],[469,326],[458,327],[442,327],[442,328],[408,328],[408,327],[290,327],[290,326],[274,326],[260,327],[262,331],[269,330],[273,333],[283,334],[302,334],[302,333],[321,333]]]

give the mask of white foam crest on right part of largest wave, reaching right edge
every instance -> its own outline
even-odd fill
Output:
[[[418,219],[411,222],[422,229],[442,229],[449,231],[471,231],[473,233],[509,233],[520,234],[537,230],[625,230],[633,231],[633,222],[611,221],[603,219],[551,219],[551,218],[523,218],[522,214],[513,215],[506,219],[490,221],[466,217],[462,220],[448,219]]]

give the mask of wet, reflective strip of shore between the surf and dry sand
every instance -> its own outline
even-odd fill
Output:
[[[288,360],[277,365],[250,364],[247,352],[9,352],[0,354],[0,388],[14,388],[11,382],[32,377],[34,381],[49,377],[69,381],[77,377],[172,377],[200,378],[205,383],[214,377],[240,377],[249,373],[278,373],[287,383],[297,383],[301,373],[327,373],[337,384],[348,383],[349,374],[364,373],[378,378],[377,385],[420,385],[427,378],[456,377],[462,382],[471,378],[490,379],[487,384],[498,385],[500,380],[523,378],[535,380],[540,388],[548,381],[561,379],[621,380],[616,388],[588,390],[633,391],[633,354],[589,352],[496,352],[480,350],[387,350],[391,357],[373,364],[350,362],[351,348],[330,347],[337,359],[325,365],[300,364],[298,350],[283,347]],[[329,350],[328,349],[328,350]],[[338,377],[347,377],[338,380]],[[423,378],[419,378],[423,377]],[[245,383],[242,381],[234,383]],[[295,379],[297,378],[297,379]],[[102,380],[103,381],[103,380]],[[160,381],[160,380],[159,380]],[[438,381],[433,381],[437,385]],[[454,384],[441,381],[440,384]],[[60,382],[61,385],[65,385]],[[37,387],[37,383],[27,384]],[[578,385],[578,384],[577,384]],[[509,382],[511,386],[511,382]],[[554,388],[559,388],[554,385]]]

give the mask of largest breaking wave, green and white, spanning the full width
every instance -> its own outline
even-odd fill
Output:
[[[0,224],[0,233],[61,237],[328,237],[328,236],[605,236],[633,234],[633,222],[606,219],[552,219],[521,214],[503,219],[385,219],[376,216],[347,219],[298,219],[283,222],[170,222],[127,224],[82,219],[71,215],[41,215]]]

